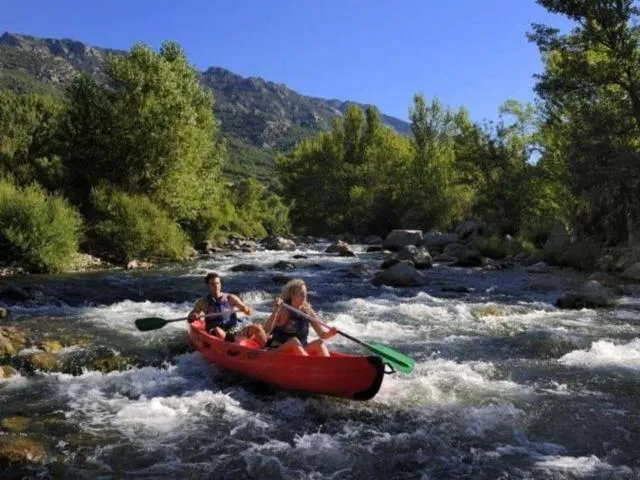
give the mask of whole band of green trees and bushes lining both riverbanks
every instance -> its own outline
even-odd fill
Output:
[[[24,93],[14,69],[0,90],[1,260],[55,272],[78,249],[180,260],[232,235],[385,235],[474,217],[487,237],[477,246],[493,256],[516,253],[506,234],[520,250],[542,246],[560,221],[574,243],[554,260],[584,267],[613,252],[631,263],[639,10],[630,0],[538,3],[575,27],[528,34],[544,61],[536,106],[508,100],[497,122],[477,123],[417,94],[408,135],[374,107],[350,106],[328,130],[283,146],[271,183],[223,173],[237,137],[222,135],[210,90],[175,43],[110,54],[63,96]]]

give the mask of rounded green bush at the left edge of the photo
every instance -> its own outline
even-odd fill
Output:
[[[0,179],[0,257],[33,272],[59,272],[78,251],[82,218],[62,197],[35,184]]]

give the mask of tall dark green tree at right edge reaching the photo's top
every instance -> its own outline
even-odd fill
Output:
[[[569,33],[534,25],[545,70],[548,164],[566,163],[583,233],[610,243],[640,238],[640,29],[631,0],[539,0],[576,22]]]

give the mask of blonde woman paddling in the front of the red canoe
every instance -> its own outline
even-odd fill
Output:
[[[273,311],[267,321],[265,331],[271,334],[267,347],[277,349],[279,353],[295,353],[298,355],[329,356],[329,349],[323,342],[336,335],[333,327],[326,328],[319,321],[310,321],[303,316],[289,311],[282,306],[287,303],[293,308],[316,318],[316,312],[307,301],[307,286],[303,280],[293,279],[287,282],[282,289],[282,295],[273,305]],[[307,342],[309,324],[320,337],[311,343]]]

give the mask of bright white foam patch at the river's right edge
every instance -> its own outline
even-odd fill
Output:
[[[567,353],[558,362],[591,368],[618,367],[640,371],[640,338],[623,344],[598,340],[593,342],[588,350]]]

